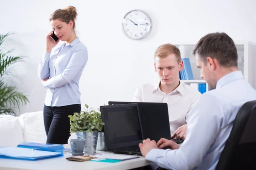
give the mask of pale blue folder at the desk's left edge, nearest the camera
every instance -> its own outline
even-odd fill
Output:
[[[23,147],[3,147],[0,148],[0,158],[6,159],[23,159],[23,160],[39,160],[63,156],[61,152],[49,152],[42,150],[35,150],[32,148]]]

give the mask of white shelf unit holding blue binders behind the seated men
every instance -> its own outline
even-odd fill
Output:
[[[244,75],[244,79],[252,85],[252,47],[249,41],[234,41],[238,54],[238,68]],[[195,49],[196,41],[175,42],[173,43],[180,49],[181,58],[189,58],[193,80],[181,80],[181,82],[190,85],[190,83],[204,83],[205,80],[200,77],[200,69],[197,68],[195,56],[192,52]],[[207,84],[207,83],[206,83]],[[207,91],[209,90],[207,84]]]

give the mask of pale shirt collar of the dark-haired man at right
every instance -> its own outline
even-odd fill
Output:
[[[232,82],[236,79],[244,79],[244,76],[241,71],[233,71],[221,77],[217,82],[216,89],[222,88],[227,83]]]

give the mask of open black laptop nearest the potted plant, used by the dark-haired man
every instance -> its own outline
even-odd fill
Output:
[[[141,155],[143,141],[137,103],[100,106],[106,145],[112,153]]]

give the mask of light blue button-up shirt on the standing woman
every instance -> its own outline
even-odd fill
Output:
[[[44,53],[38,67],[38,77],[47,88],[45,105],[66,106],[81,104],[79,79],[88,60],[87,48],[77,37],[69,45],[61,44]]]

